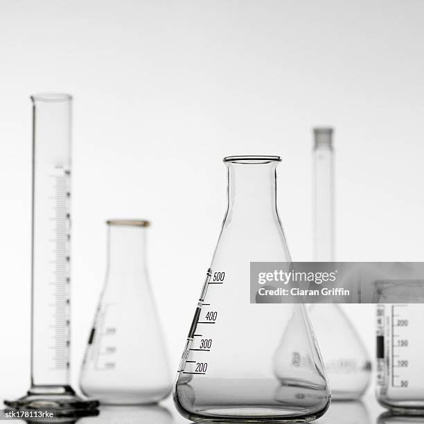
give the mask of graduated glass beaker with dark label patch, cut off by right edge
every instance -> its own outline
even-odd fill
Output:
[[[400,303],[422,294],[424,281],[377,281],[378,402],[405,414],[424,414],[423,304]]]

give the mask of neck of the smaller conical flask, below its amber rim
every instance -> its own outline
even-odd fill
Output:
[[[131,225],[109,225],[108,269],[117,272],[120,279],[132,278],[145,270],[145,227]]]

